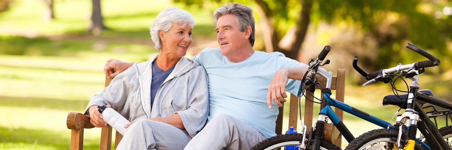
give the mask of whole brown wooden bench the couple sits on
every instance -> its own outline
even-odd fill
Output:
[[[107,87],[112,79],[108,79],[105,77],[105,87]],[[325,84],[320,84],[320,86],[325,87]],[[331,90],[336,90],[336,100],[344,101],[344,88],[345,88],[345,70],[338,69],[337,77],[333,77],[333,81],[331,82]],[[311,95],[307,95],[309,99],[313,99]],[[290,96],[290,107],[289,107],[289,127],[294,127],[297,129],[297,116],[298,116],[298,97],[295,95]],[[284,103],[282,103],[284,105]],[[282,131],[288,130],[288,127],[282,127],[282,114],[284,114],[284,107],[279,108],[278,119],[276,120],[276,133],[282,134]],[[335,110],[336,114],[338,114],[339,118],[342,119],[342,110]],[[312,116],[313,114],[313,103],[309,100],[305,100],[305,116]],[[71,133],[71,150],[83,150],[83,132],[84,129],[94,128],[91,123],[89,123],[89,115],[71,112],[67,114],[66,125],[68,129],[72,130]],[[312,125],[312,117],[305,117],[304,123],[307,124],[308,129]],[[332,137],[331,135],[337,134],[334,132],[333,125],[325,125],[325,137],[330,137],[330,139],[336,139],[333,141],[334,144],[341,146],[341,136]],[[337,130],[337,129],[336,129]],[[100,148],[99,150],[111,150],[111,142],[112,142],[112,131],[113,128],[110,125],[107,127],[102,127],[101,135],[100,135]],[[116,132],[115,136],[115,150],[118,146],[119,141],[122,139],[122,135],[119,132]],[[328,140],[328,138],[326,138]],[[332,141],[332,140],[329,140]]]

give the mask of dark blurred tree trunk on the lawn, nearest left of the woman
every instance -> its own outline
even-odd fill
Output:
[[[105,28],[104,18],[100,11],[100,0],[93,0],[93,14],[91,14],[91,25],[89,26],[88,31],[92,32],[94,35],[99,35]]]

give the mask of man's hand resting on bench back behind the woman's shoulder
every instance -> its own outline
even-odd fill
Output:
[[[108,59],[107,63],[105,63],[104,73],[108,78],[113,78],[127,68],[130,68],[132,64],[133,63],[126,63],[117,59]]]

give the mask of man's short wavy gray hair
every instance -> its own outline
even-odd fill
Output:
[[[240,32],[245,32],[246,27],[248,26],[251,27],[251,35],[248,40],[250,41],[251,46],[254,46],[256,32],[254,24],[256,24],[256,22],[253,17],[253,9],[240,3],[229,3],[226,6],[221,6],[217,11],[215,11],[215,13],[213,13],[213,20],[217,22],[218,18],[226,14],[235,15]]]

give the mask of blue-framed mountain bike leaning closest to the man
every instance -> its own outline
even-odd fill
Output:
[[[362,118],[370,123],[374,123],[380,127],[383,128],[390,128],[394,129],[395,126],[392,126],[391,123],[388,123],[380,118],[377,118],[375,116],[372,116],[362,110],[356,109],[352,106],[349,106],[345,103],[342,103],[338,100],[335,100],[330,97],[331,91],[330,91],[330,83],[332,79],[332,72],[325,72],[322,70],[319,70],[319,66],[323,66],[325,64],[329,64],[329,60],[327,59],[324,64],[320,65],[322,63],[323,59],[325,59],[326,55],[328,54],[330,50],[330,46],[325,46],[324,50],[319,54],[317,59],[312,59],[309,63],[309,70],[305,73],[305,77],[302,80],[301,84],[301,90],[305,91],[306,89],[310,89],[310,91],[313,88],[313,86],[318,86],[315,83],[315,78],[311,79],[310,77],[306,77],[306,74],[311,72],[311,77],[314,77],[316,74],[318,74],[320,77],[323,77],[327,80],[326,88],[322,90],[324,93],[322,95],[321,100],[321,106],[320,106],[320,113],[319,117],[317,119],[317,122],[315,123],[315,127],[311,127],[309,134],[306,134],[306,124],[303,126],[303,129],[301,133],[298,134],[283,134],[278,136],[273,136],[267,140],[264,140],[260,142],[259,144],[255,145],[251,150],[273,150],[277,148],[281,148],[288,145],[298,145],[300,149],[308,149],[308,150],[340,150],[339,147],[337,149],[334,146],[326,146],[329,145],[330,142],[325,142],[324,139],[322,139],[323,134],[323,128],[325,126],[325,123],[328,121],[328,118],[331,119],[331,122],[334,124],[334,126],[339,130],[339,132],[344,136],[345,140],[348,142],[351,142],[355,139],[355,137],[352,135],[352,133],[348,130],[348,128],[344,125],[344,123],[339,119],[339,117],[334,113],[333,109],[331,109],[330,106],[334,106],[335,108],[344,110],[345,112],[352,114],[354,116],[357,116],[358,118]],[[357,59],[357,57],[356,57]],[[373,75],[373,74],[372,74]],[[307,87],[307,88],[306,88]],[[313,92],[313,91],[311,91]],[[303,93],[299,93],[298,97],[301,97],[301,95],[304,95]],[[300,110],[301,111],[301,110]],[[301,112],[300,112],[301,115]],[[301,116],[300,116],[301,118]],[[315,128],[315,129],[314,129]],[[436,129],[436,128],[435,128]],[[416,143],[414,146],[416,150],[424,150],[423,147],[428,147],[423,142],[419,141],[419,139],[416,139]],[[423,145],[421,145],[421,143]],[[332,144],[332,143],[331,143]]]

